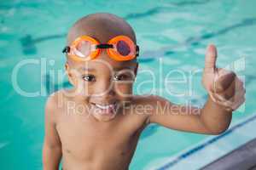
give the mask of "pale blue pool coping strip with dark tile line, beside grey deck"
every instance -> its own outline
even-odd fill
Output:
[[[216,161],[219,156],[224,156],[230,151],[236,149],[242,144],[256,138],[256,133],[252,130],[256,127],[256,113],[243,119],[230,127],[225,133],[218,136],[210,137],[197,144],[189,150],[174,156],[157,167],[158,170],[166,169],[199,169],[206,166],[212,161]]]

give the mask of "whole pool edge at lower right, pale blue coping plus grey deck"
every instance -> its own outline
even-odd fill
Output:
[[[255,127],[256,112],[232,123],[225,133],[209,137],[151,169],[256,170]]]

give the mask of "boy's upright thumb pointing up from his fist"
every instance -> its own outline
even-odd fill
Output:
[[[205,70],[214,71],[216,68],[216,60],[217,60],[217,49],[214,45],[211,44],[207,47],[207,54],[205,59]]]

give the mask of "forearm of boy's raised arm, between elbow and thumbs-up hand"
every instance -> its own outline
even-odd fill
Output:
[[[230,126],[232,111],[225,110],[224,106],[214,103],[211,97],[208,97],[207,103],[201,109],[200,118],[209,132],[223,133]]]

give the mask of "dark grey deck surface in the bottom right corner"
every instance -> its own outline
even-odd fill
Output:
[[[256,170],[256,139],[241,145],[201,170]]]

